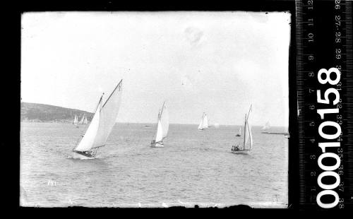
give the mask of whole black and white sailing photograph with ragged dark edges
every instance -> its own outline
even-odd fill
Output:
[[[288,208],[291,20],[22,13],[20,206]]]

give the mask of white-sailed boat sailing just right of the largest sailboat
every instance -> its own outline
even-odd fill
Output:
[[[163,140],[167,137],[169,130],[169,114],[168,109],[163,102],[160,112],[158,112],[157,119],[157,132],[154,136],[154,139],[151,141],[151,147],[153,148],[162,148]]]

